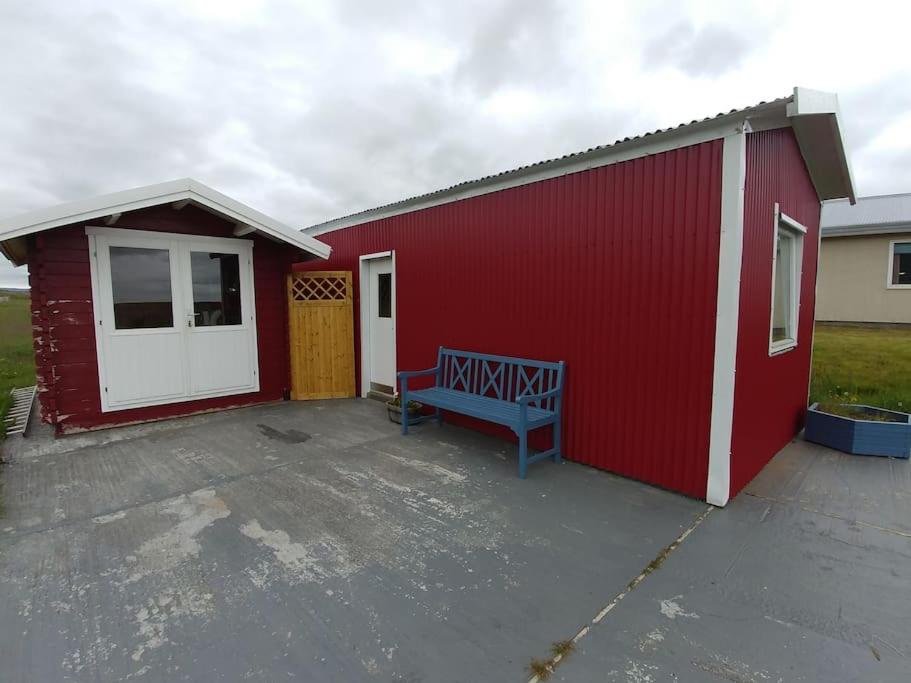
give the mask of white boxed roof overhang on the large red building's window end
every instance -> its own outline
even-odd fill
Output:
[[[856,204],[838,96],[794,88],[787,115],[820,200],[847,197]]]

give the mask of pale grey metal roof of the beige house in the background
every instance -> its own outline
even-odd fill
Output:
[[[836,199],[822,205],[823,237],[911,230],[911,193],[860,197],[851,206]]]

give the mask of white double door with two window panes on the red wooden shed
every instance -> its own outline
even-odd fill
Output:
[[[86,233],[102,411],[259,390],[251,241]]]

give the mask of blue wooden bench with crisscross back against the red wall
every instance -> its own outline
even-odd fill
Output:
[[[427,389],[409,389],[413,377],[433,376]],[[437,365],[428,370],[400,372],[402,434],[408,425],[436,419],[443,410],[495,422],[509,427],[519,437],[519,478],[528,465],[544,458],[560,462],[560,406],[563,399],[563,361],[548,363],[525,358],[493,356],[440,347]],[[408,417],[408,402],[419,401],[436,408],[432,415]],[[554,426],[553,448],[528,456],[528,432]]]

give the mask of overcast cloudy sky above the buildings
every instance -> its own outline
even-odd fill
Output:
[[[615,4],[0,0],[0,216],[192,176],[303,227],[795,85],[911,191],[904,3]]]

